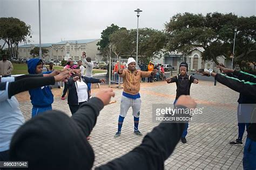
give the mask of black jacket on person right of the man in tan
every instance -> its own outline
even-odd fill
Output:
[[[190,87],[194,80],[194,76],[190,76],[187,74],[185,75],[185,77],[182,77],[180,75],[172,77],[171,83],[176,82],[177,86],[176,99],[178,99],[181,95],[190,95]]]

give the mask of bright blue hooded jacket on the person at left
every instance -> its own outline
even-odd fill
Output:
[[[36,66],[41,59],[30,59],[28,61],[28,72],[29,74],[37,74]],[[49,74],[51,72],[45,72],[43,74]],[[45,108],[50,107],[53,103],[53,94],[51,93],[51,88],[49,86],[43,86],[41,88],[35,88],[29,90],[30,100],[33,107]]]

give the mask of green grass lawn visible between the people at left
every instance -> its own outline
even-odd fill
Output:
[[[12,70],[11,74],[28,74],[28,66],[25,63],[12,63],[12,66],[14,66],[14,70]],[[48,65],[45,65],[45,67],[48,67]],[[54,66],[54,68],[63,69],[62,66]],[[106,73],[106,70],[93,69],[92,73]]]

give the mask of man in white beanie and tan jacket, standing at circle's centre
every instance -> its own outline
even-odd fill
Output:
[[[142,136],[139,131],[139,115],[140,107],[142,101],[140,100],[139,89],[140,89],[140,79],[143,77],[150,77],[156,74],[153,72],[143,72],[136,69],[136,61],[133,58],[129,58],[128,69],[120,68],[118,70],[118,75],[123,77],[124,80],[124,91],[121,98],[120,114],[118,118],[118,131],[114,137],[119,137],[121,134],[122,125],[127,111],[132,107],[132,114],[134,117],[134,133],[138,136]]]

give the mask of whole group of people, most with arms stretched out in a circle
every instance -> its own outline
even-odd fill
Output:
[[[28,161],[30,169],[91,169],[95,154],[87,141],[97,117],[105,105],[114,97],[113,89],[103,89],[91,97],[90,83],[106,82],[105,79],[92,77],[91,58],[83,52],[83,61],[78,66],[68,60],[63,70],[42,72],[43,62],[40,59],[28,61],[28,75],[9,76],[11,67],[0,77],[0,161]],[[6,60],[4,61],[6,62]],[[85,63],[86,68],[82,63]],[[6,63],[4,65],[7,66]],[[1,66],[1,62],[0,62]],[[181,62],[177,76],[165,79],[163,66],[148,66],[143,62],[136,69],[133,58],[127,60],[127,67],[114,67],[112,73],[123,78],[123,93],[120,98],[117,132],[120,137],[124,118],[132,107],[134,134],[143,136],[139,130],[139,117],[142,100],[140,83],[153,82],[155,79],[176,83],[177,93],[173,102],[176,108],[196,108],[197,103],[190,97],[191,84],[198,84],[198,79],[188,75],[188,65]],[[215,80],[240,93],[238,117],[251,112],[248,122],[238,124],[239,136],[231,144],[241,144],[242,134],[247,127],[247,138],[244,147],[244,169],[256,169],[256,107],[244,107],[243,104],[256,102],[256,76],[218,66],[221,74],[212,70],[199,69],[203,76],[213,76]],[[0,67],[0,70],[2,67]],[[161,77],[161,78],[160,78]],[[68,104],[72,116],[62,111],[52,110],[53,94],[50,85],[65,82],[62,100],[67,91]],[[14,95],[29,91],[32,111],[31,119],[24,121],[23,114]],[[247,105],[246,105],[247,106]],[[251,105],[253,107],[255,105]],[[184,116],[177,114],[176,116]],[[190,117],[190,114],[186,114]],[[240,123],[240,122],[239,122]],[[160,123],[144,137],[142,144],[120,158],[114,159],[96,169],[164,169],[164,161],[170,157],[181,140],[186,143],[188,122]]]

